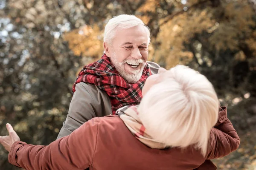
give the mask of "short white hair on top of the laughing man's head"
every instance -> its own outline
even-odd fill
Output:
[[[145,31],[148,35],[148,45],[150,43],[150,29],[145,26],[140,18],[135,17],[134,15],[122,14],[116,17],[111,18],[107,25],[105,26],[104,31],[104,42],[109,44],[112,43],[116,35],[116,30],[119,29],[128,29],[134,26],[142,25],[145,27]]]

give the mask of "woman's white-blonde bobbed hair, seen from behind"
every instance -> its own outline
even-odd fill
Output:
[[[209,80],[177,65],[143,96],[138,111],[149,135],[170,147],[194,145],[205,156],[219,101]]]

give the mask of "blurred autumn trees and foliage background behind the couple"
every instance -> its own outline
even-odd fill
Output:
[[[24,142],[56,139],[78,72],[119,14],[151,28],[148,60],[200,71],[228,106],[241,145],[218,168],[256,170],[256,0],[0,0],[0,136],[9,122]],[[0,169],[18,169],[7,154],[0,146]]]

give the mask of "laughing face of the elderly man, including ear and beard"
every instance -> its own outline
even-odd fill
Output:
[[[118,29],[112,44],[104,44],[105,53],[119,74],[129,83],[142,76],[148,59],[148,36],[142,25]]]

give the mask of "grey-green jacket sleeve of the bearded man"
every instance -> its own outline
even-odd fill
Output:
[[[77,84],[76,91],[70,102],[67,118],[63,122],[63,127],[57,139],[69,135],[84,122],[96,117],[96,109],[94,106],[94,100],[86,87],[82,83]]]

